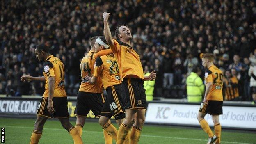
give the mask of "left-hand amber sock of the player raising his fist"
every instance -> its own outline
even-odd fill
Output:
[[[123,144],[128,136],[130,127],[122,123],[118,129],[117,133],[117,144]]]

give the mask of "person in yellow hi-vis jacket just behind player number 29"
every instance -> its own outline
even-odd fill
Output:
[[[193,69],[190,75],[187,77],[187,101],[188,102],[201,102],[204,93],[204,84],[199,77],[200,69]]]

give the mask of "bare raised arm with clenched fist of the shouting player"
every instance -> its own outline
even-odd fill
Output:
[[[103,22],[104,22],[104,31],[103,32],[104,32],[104,36],[106,38],[107,43],[110,46],[113,46],[114,45],[114,41],[112,40],[110,28],[109,28],[109,25],[107,23],[107,20],[108,20],[109,16],[110,16],[110,13],[107,13],[107,12],[103,13]]]

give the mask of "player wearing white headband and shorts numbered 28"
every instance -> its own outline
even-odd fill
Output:
[[[99,37],[95,44],[95,50],[100,51],[109,48],[105,37]],[[125,110],[121,102],[121,78],[119,74],[119,67],[117,59],[113,53],[98,57],[95,62],[94,74],[92,77],[87,76],[87,80],[95,83],[100,77],[104,89],[107,91],[106,101],[101,111],[99,119],[100,125],[107,131],[107,133],[115,140],[117,140],[117,128],[110,123],[110,118],[114,116],[118,126],[124,121]],[[129,142],[129,139],[126,139]],[[106,142],[107,143],[107,142]],[[109,142],[112,144],[112,141]]]

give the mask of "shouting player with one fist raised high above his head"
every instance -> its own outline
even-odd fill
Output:
[[[147,109],[143,82],[144,80],[155,80],[156,73],[152,71],[149,76],[144,76],[137,50],[130,46],[132,35],[128,27],[124,25],[117,27],[116,37],[120,41],[112,39],[107,22],[109,16],[110,13],[103,13],[104,36],[120,67],[119,71],[122,80],[121,97],[126,111],[126,119],[118,130],[117,144],[123,144],[125,142],[130,129],[131,144],[137,144],[142,126],[144,125]]]

